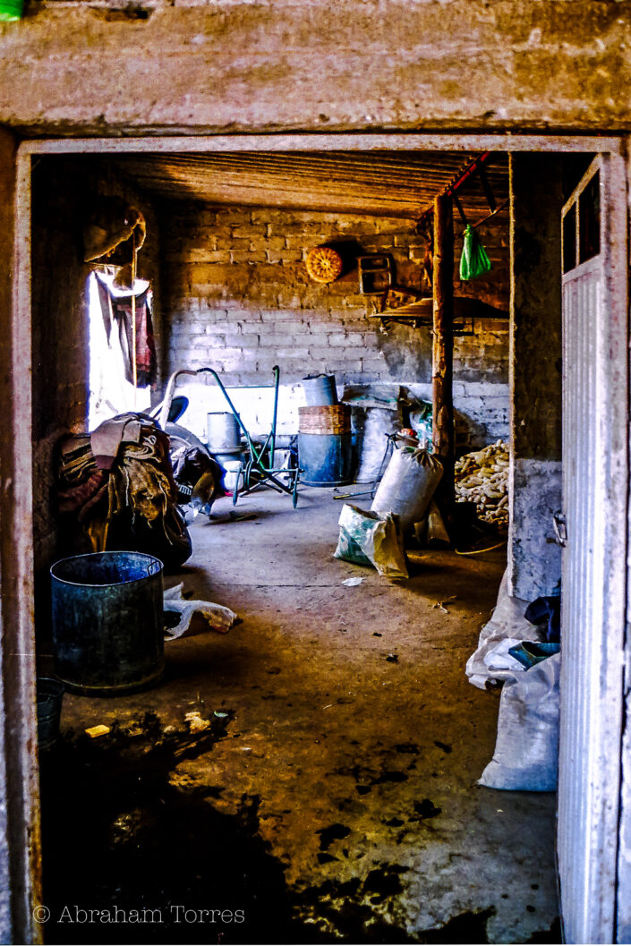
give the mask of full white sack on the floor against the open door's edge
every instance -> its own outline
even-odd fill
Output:
[[[480,785],[513,792],[553,792],[558,775],[561,655],[507,680],[498,738]]]

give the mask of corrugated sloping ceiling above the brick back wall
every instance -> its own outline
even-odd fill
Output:
[[[479,157],[462,151],[221,152],[121,155],[115,163],[169,200],[417,218]],[[508,198],[508,159],[485,165],[496,201]],[[488,213],[480,175],[459,191],[467,216]]]

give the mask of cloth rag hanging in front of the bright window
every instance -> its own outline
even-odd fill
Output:
[[[155,354],[155,338],[151,319],[151,290],[145,289],[133,296],[115,294],[102,279],[96,279],[98,284],[98,298],[103,313],[103,324],[108,342],[114,325],[118,328],[120,347],[125,365],[125,377],[133,384],[133,361],[131,353],[134,345],[134,325],[132,322],[135,308],[135,368],[137,388],[148,388],[155,383],[157,359]],[[132,298],[134,304],[132,304]]]

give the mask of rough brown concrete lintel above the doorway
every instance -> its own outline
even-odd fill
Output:
[[[118,0],[0,26],[29,133],[624,130],[629,0]]]

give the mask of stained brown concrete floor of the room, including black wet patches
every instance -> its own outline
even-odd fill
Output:
[[[66,694],[42,769],[48,942],[560,941],[554,797],[476,783],[498,694],[464,664],[504,550],[415,552],[389,582],[332,557],[340,509],[261,491],[222,522],[220,500],[165,584],[240,622],[168,642],[149,692]]]

